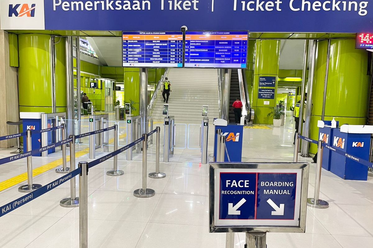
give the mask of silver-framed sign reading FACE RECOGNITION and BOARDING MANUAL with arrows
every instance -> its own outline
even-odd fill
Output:
[[[308,164],[210,163],[210,232],[304,232]]]

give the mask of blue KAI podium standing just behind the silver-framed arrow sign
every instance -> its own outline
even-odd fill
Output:
[[[241,125],[227,125],[215,126],[215,133],[217,129],[222,129],[222,135],[225,136],[225,146],[228,151],[231,162],[242,161],[242,140],[244,134],[244,126]],[[214,158],[216,158],[217,139],[214,139]],[[228,162],[228,156],[225,154],[225,162]]]

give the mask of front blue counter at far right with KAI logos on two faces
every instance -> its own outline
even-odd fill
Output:
[[[332,147],[350,155],[369,160],[370,133],[346,133],[334,129]],[[323,151],[327,152],[327,148]],[[330,151],[330,171],[347,180],[367,180],[368,167],[346,158],[344,155]]]

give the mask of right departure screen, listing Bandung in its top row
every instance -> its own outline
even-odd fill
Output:
[[[246,68],[247,37],[247,31],[187,31],[184,67]]]

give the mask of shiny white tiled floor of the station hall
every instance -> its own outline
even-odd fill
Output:
[[[155,124],[154,126],[162,125]],[[285,128],[244,129],[243,161],[286,162],[293,159],[293,123]],[[184,129],[183,129],[184,128]],[[210,127],[209,154],[212,154],[213,127]],[[198,146],[198,125],[179,125],[176,146]],[[163,133],[163,127],[162,127]],[[196,131],[197,130],[197,131]],[[163,136],[161,137],[163,151]],[[186,142],[186,145],[185,145]],[[124,141],[122,144],[125,143]],[[155,142],[154,142],[155,144]],[[124,144],[123,144],[124,145]],[[87,146],[81,145],[77,150]],[[110,151],[112,151],[110,147]],[[13,149],[0,150],[8,157]],[[155,145],[148,149],[148,173],[155,167]],[[61,152],[48,158],[33,157],[37,168],[60,158]],[[104,153],[97,152],[97,158]],[[198,149],[175,149],[169,163],[160,170],[162,179],[147,178],[148,187],[156,190],[151,198],[134,197],[141,187],[142,156],[134,153],[127,162],[126,154],[118,156],[120,177],[109,177],[113,160],[107,160],[89,171],[88,230],[89,247],[103,248],[223,248],[225,234],[209,233],[209,173],[208,165],[200,164]],[[211,160],[211,158],[209,158]],[[88,155],[76,162],[88,160]],[[300,157],[300,161],[310,161]],[[90,161],[90,160],[88,160]],[[0,181],[25,173],[26,159],[0,166]],[[43,185],[59,178],[54,170],[34,178]],[[315,167],[310,165],[308,192],[313,196]],[[24,184],[25,182],[21,183]],[[21,185],[19,184],[19,185]],[[76,182],[78,186],[78,180]],[[0,192],[0,205],[20,196],[18,186]],[[65,183],[31,203],[0,218],[0,247],[56,248],[79,247],[79,209],[59,206],[69,196],[70,184]],[[268,233],[269,248],[371,248],[373,243],[373,180],[347,181],[323,170],[320,198],[330,203],[328,209],[308,208],[306,233]],[[244,233],[235,234],[235,248],[243,248]]]

